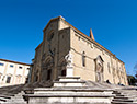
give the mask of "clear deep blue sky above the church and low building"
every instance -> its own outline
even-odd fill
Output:
[[[31,63],[43,28],[58,15],[87,35],[92,28],[95,41],[135,74],[137,0],[0,0],[0,58]]]

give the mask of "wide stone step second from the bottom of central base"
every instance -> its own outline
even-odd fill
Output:
[[[112,90],[101,90],[101,89],[60,89],[60,88],[54,88],[54,89],[46,89],[46,88],[41,88],[41,89],[35,89],[34,94],[104,94],[104,95],[112,95]]]

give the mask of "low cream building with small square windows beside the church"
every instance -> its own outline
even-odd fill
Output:
[[[0,86],[23,84],[28,72],[28,63],[0,59]]]

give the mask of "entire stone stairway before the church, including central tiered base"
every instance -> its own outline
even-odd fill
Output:
[[[137,88],[59,77],[52,83],[0,88],[0,104],[137,104]]]

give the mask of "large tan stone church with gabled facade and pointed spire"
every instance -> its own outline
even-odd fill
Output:
[[[87,36],[58,16],[48,22],[43,33],[43,42],[35,49],[32,82],[64,76],[128,84],[124,62],[96,43],[92,31]]]

